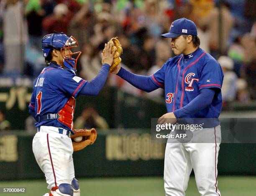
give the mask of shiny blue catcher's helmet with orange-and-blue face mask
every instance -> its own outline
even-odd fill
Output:
[[[72,35],[67,35],[65,33],[52,33],[45,35],[42,39],[42,50],[44,58],[47,58],[49,54],[51,53],[51,50],[54,48],[61,50],[61,55],[64,58],[64,61],[69,63],[74,69],[77,65],[77,59],[79,58],[79,55],[81,52],[75,52],[72,53],[70,50],[71,48],[77,47],[78,43],[77,40]],[[68,50],[65,50],[68,49]],[[73,57],[72,57],[73,55]],[[76,58],[74,58],[74,55],[76,55]],[[71,63],[71,62],[74,63]]]

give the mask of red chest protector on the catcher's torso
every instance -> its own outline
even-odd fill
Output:
[[[70,98],[65,106],[61,108],[59,111],[59,122],[68,126],[70,129],[73,129],[74,123],[73,123],[73,118],[74,118],[74,108],[76,105],[76,100],[74,97]]]

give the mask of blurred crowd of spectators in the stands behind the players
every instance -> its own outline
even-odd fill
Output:
[[[104,43],[115,36],[123,47],[122,66],[151,75],[173,56],[170,40],[160,35],[185,17],[197,25],[200,47],[223,68],[224,106],[256,99],[253,0],[0,0],[0,17],[2,86],[32,85],[45,64],[41,39],[54,30],[77,38],[77,72],[86,80],[97,75]],[[142,93],[115,75],[108,85],[138,96],[163,95],[161,89]]]

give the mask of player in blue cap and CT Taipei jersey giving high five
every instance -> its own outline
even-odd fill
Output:
[[[112,73],[136,88],[151,92],[165,91],[167,112],[159,124],[176,123],[179,118],[208,118],[198,133],[200,138],[212,137],[212,143],[167,142],[164,159],[164,189],[166,196],[184,196],[192,168],[201,196],[220,196],[217,181],[218,151],[221,140],[220,115],[223,72],[219,63],[202,50],[194,22],[175,20],[169,33],[175,57],[151,76],[136,75],[120,65]],[[211,119],[211,120],[210,120]]]

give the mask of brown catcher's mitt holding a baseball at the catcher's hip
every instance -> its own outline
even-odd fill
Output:
[[[75,133],[70,138],[72,139],[74,151],[80,151],[86,146],[93,144],[97,138],[97,131],[95,128],[92,128],[90,130],[75,129],[73,131]]]

